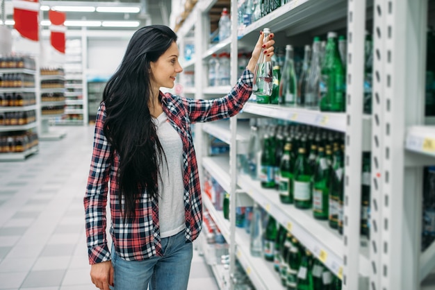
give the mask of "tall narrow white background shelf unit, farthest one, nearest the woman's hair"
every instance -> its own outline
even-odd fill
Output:
[[[85,118],[85,90],[83,89],[83,43],[70,38],[65,49],[65,113],[56,118],[56,125],[83,125]]]

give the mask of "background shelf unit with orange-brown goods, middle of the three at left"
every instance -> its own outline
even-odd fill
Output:
[[[58,140],[66,133],[50,125],[65,114],[65,72],[62,67],[40,69],[41,129],[40,139]]]

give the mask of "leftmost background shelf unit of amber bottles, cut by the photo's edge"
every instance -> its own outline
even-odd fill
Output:
[[[28,56],[0,56],[0,161],[38,152],[36,64]]]

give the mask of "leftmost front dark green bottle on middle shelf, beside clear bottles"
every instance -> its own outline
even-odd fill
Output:
[[[261,169],[258,179],[261,180],[261,187],[273,188],[275,187],[274,180],[274,165],[275,155],[274,146],[272,145],[272,135],[266,133],[264,135],[263,151],[261,151]]]

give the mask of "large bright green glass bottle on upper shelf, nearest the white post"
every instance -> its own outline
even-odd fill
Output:
[[[345,110],[345,70],[337,46],[337,34],[328,33],[319,83],[321,111]]]

